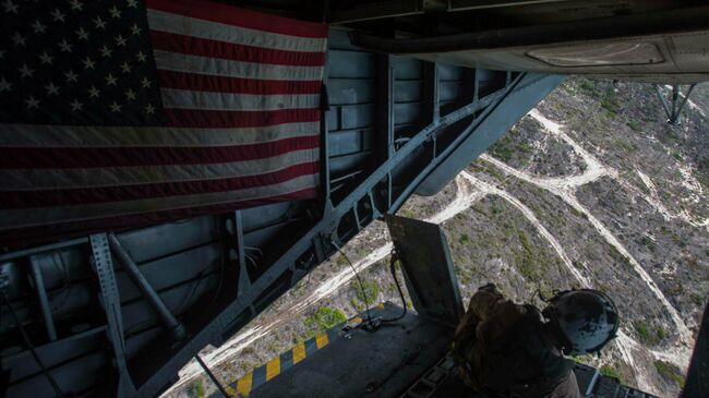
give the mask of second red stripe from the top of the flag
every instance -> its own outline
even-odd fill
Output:
[[[154,50],[232,61],[298,67],[322,67],[325,64],[325,52],[268,49],[157,31],[151,31],[151,41]]]

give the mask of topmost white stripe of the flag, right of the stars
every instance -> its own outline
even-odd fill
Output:
[[[151,31],[159,31],[236,45],[269,48],[275,50],[325,51],[326,38],[298,37],[272,32],[250,29],[242,26],[176,15],[158,10],[147,10]]]

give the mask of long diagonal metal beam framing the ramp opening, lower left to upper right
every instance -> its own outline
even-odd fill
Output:
[[[325,213],[323,214],[320,221],[311,227],[310,230],[303,232],[300,236],[300,239],[292,243],[289,249],[256,279],[251,286],[251,291],[253,292],[251,298],[254,299],[244,299],[244,300],[233,300],[227,304],[218,315],[212,318],[208,326],[196,331],[185,342],[176,348],[172,351],[172,355],[164,362],[159,369],[155,369],[151,372],[149,376],[142,384],[140,388],[140,394],[145,396],[153,396],[158,394],[161,388],[170,383],[175,374],[190,360],[193,358],[195,352],[199,352],[203,347],[212,341],[217,341],[221,338],[221,335],[225,330],[230,333],[236,333],[239,328],[238,325],[244,325],[249,319],[253,318],[259,311],[256,307],[263,309],[273,300],[275,300],[278,294],[263,294],[268,289],[274,288],[274,282],[278,280],[286,279],[291,286],[292,284],[298,282],[300,277],[305,275],[299,270],[299,258],[301,258],[308,252],[315,252],[314,243],[319,239],[324,239],[325,241],[331,241],[332,239],[343,238],[344,241],[351,239],[352,234],[347,234],[345,237],[336,237],[336,232],[341,220],[345,217],[351,216],[352,208],[358,205],[358,203],[365,198],[369,194],[375,195],[386,195],[387,193],[378,192],[378,189],[382,186],[382,183],[385,183],[387,178],[393,180],[393,171],[400,166],[405,160],[410,160],[411,156],[417,154],[428,141],[440,133],[442,130],[452,126],[453,124],[469,118],[472,114],[476,114],[480,110],[483,110],[488,107],[495,106],[502,101],[509,94],[509,91],[513,89],[525,89],[527,87],[536,88],[536,84],[539,81],[544,81],[545,75],[531,75],[527,80],[525,74],[517,76],[509,87],[501,88],[500,91],[492,93],[483,98],[480,98],[473,104],[461,107],[460,109],[453,111],[444,117],[441,117],[434,123],[422,129],[418,134],[411,137],[406,144],[404,144],[394,155],[375,170],[370,172],[370,174],[359,183],[359,185],[353,189],[346,197],[344,197],[336,206],[326,207]],[[517,84],[520,83],[520,84]],[[469,132],[470,133],[470,132]],[[460,145],[461,141],[454,141],[449,146],[444,150],[444,154],[449,153],[455,149],[456,145]],[[431,165],[425,172],[431,172],[437,167],[444,158],[435,158],[431,160]],[[416,186],[420,183],[420,180],[414,180],[406,182],[406,186],[402,191],[397,191],[397,196],[393,197],[394,203],[392,207],[382,209],[382,212],[395,212],[398,206],[410,195]],[[370,219],[371,220],[371,219]],[[327,255],[334,252],[334,248],[325,248]],[[260,302],[254,302],[255,298],[260,298]],[[237,326],[235,326],[237,325]]]

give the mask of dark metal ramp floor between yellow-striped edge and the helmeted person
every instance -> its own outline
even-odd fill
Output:
[[[393,318],[401,309],[385,303],[372,317]],[[395,397],[446,351],[454,328],[409,313],[373,333],[354,329],[284,371],[250,397]],[[348,337],[349,336],[349,337]]]

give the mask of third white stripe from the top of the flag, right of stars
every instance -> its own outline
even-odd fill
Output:
[[[233,93],[195,92],[163,88],[163,106],[177,109],[207,110],[278,110],[313,109],[320,105],[320,95],[253,95]]]

